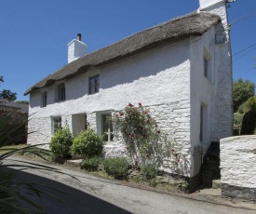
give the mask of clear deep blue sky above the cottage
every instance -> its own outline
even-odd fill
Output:
[[[88,52],[132,33],[192,12],[198,0],[1,0],[0,90],[24,97],[26,89],[67,63],[67,44],[82,33]],[[256,1],[236,0],[228,8],[234,79],[256,83]]]

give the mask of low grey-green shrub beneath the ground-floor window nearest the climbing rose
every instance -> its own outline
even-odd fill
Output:
[[[109,175],[114,175],[115,178],[124,178],[128,171],[128,160],[125,157],[106,158],[102,165]]]

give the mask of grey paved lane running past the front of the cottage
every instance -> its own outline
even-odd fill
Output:
[[[13,160],[24,160],[11,157]],[[7,160],[5,164],[11,161]],[[20,180],[43,183],[66,194],[57,194],[63,203],[51,196],[43,196],[43,206],[47,213],[146,213],[146,214],[205,214],[205,213],[253,213],[255,210],[220,206],[196,201],[180,196],[158,194],[155,192],[124,186],[112,181],[93,177],[78,170],[54,166],[62,172],[72,175],[78,180],[56,172],[31,170],[17,171]]]

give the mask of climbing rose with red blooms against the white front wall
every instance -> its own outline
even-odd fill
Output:
[[[172,159],[176,164],[187,161],[181,152],[182,146],[168,140],[167,134],[160,130],[149,109],[145,109],[141,102],[138,107],[129,103],[124,111],[114,114],[112,122],[122,133],[135,167],[145,163],[159,166],[164,158]]]

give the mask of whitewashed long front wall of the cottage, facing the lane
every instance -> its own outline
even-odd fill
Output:
[[[88,95],[88,77],[100,74],[100,92]],[[58,84],[58,83],[57,83]],[[118,111],[131,102],[141,102],[155,115],[159,126],[190,151],[190,60],[189,40],[161,47],[141,55],[120,60],[65,82],[66,100],[56,103],[55,87],[31,94],[29,136],[31,144],[48,142],[52,136],[51,117],[61,116],[73,130],[73,114],[87,114],[90,127],[99,130],[97,114]],[[41,94],[47,90],[47,107],[41,107]],[[47,123],[38,121],[45,118]],[[44,135],[45,138],[40,136]],[[106,147],[106,154],[125,154],[124,145],[116,142]],[[119,151],[119,152],[118,152]],[[188,164],[190,166],[190,164]],[[170,169],[169,169],[170,170]],[[190,171],[190,170],[188,170]],[[188,176],[190,176],[188,174]]]

